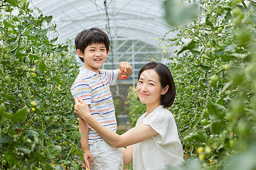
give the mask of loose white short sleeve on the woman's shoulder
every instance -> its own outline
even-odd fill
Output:
[[[172,136],[170,134],[177,133],[174,116],[171,112],[150,113],[144,118],[142,124],[151,126],[160,135],[160,137],[156,136],[156,141],[161,144],[170,142],[170,136]]]

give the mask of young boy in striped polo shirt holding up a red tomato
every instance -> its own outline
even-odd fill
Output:
[[[80,32],[76,36],[75,45],[84,66],[79,68],[80,73],[71,87],[71,93],[74,98],[81,97],[88,104],[90,113],[98,122],[115,132],[117,121],[109,86],[121,79],[122,74],[133,74],[133,68],[130,63],[121,62],[118,70],[100,69],[109,54],[110,41],[108,35],[99,28]],[[81,148],[85,152],[82,167],[123,169],[120,149],[109,145],[81,118],[79,131],[85,135],[81,135]]]

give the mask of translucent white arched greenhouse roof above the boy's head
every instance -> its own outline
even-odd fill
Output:
[[[110,40],[141,40],[159,46],[155,38],[171,29],[163,19],[163,0],[30,0],[30,8],[34,7],[53,16],[59,43],[75,39],[82,29],[99,27]]]

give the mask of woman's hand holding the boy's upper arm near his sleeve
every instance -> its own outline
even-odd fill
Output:
[[[74,113],[86,121],[86,116],[92,116],[88,105],[82,100],[81,97],[75,98],[75,111]]]

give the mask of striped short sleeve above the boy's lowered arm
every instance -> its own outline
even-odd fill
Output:
[[[92,89],[89,87],[88,83],[82,79],[78,79],[73,83],[71,93],[74,99],[81,97],[86,104],[91,104],[92,102]]]

